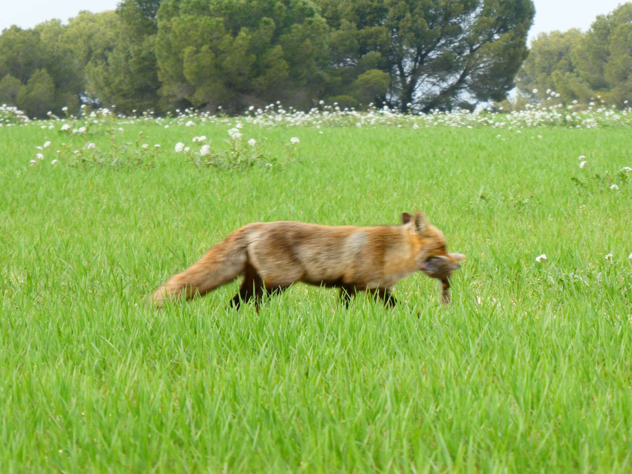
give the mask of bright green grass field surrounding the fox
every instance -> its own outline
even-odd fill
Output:
[[[632,470],[632,184],[586,179],[632,166],[629,129],[246,125],[300,138],[284,170],[173,152],[228,128],[126,126],[162,145],[147,171],[51,166],[55,133],[0,129],[0,472]],[[422,274],[395,310],[298,284],[236,312],[238,282],[145,305],[248,222],[415,209],[468,257],[447,308]]]

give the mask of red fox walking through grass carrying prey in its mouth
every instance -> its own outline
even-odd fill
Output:
[[[435,257],[443,257],[445,271],[440,271],[439,260],[430,265]],[[404,212],[397,226],[253,222],[169,278],[151,300],[161,307],[174,298],[204,295],[243,275],[240,290],[231,300],[236,308],[255,298],[258,309],[265,293],[280,293],[299,281],[339,288],[346,306],[357,291],[367,291],[393,306],[396,300],[391,290],[399,280],[425,268],[447,280],[462,257],[447,252],[443,233],[420,211],[413,216]]]

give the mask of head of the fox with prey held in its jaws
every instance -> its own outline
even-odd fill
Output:
[[[417,244],[415,247],[418,247],[417,259],[420,270],[428,276],[438,277],[442,274],[449,275],[461,266],[458,262],[465,260],[465,255],[447,252],[446,237],[428,222],[420,210],[412,216],[408,212],[403,212],[401,221],[404,226],[408,226]]]

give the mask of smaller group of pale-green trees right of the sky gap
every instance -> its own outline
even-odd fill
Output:
[[[526,99],[552,91],[562,104],[595,102],[627,108],[632,103],[632,3],[597,16],[585,33],[540,33],[516,83]],[[547,92],[548,91],[548,92]]]

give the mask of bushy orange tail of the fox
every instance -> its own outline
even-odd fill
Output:
[[[195,264],[169,278],[151,296],[154,306],[160,308],[165,301],[178,297],[188,300],[195,295],[204,295],[240,276],[246,267],[250,230],[252,224],[234,231],[226,240],[212,246]]]

